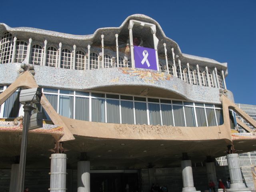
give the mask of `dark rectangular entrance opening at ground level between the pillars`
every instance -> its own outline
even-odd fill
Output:
[[[138,173],[91,173],[91,192],[138,192]]]

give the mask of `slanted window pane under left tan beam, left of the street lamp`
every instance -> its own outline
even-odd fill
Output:
[[[19,101],[20,92],[15,91],[4,104],[4,118],[16,118],[19,115],[20,110],[20,101]]]

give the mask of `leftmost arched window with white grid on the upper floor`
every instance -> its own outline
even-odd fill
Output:
[[[6,32],[0,41],[0,63],[10,63],[12,60],[12,34]]]

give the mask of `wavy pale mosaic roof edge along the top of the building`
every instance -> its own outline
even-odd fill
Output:
[[[190,60],[190,61],[194,61],[194,62],[204,62],[204,63],[208,63],[208,64],[216,64],[217,66],[220,66],[221,68],[227,68],[227,63],[220,63],[216,60],[210,59],[210,58],[204,58],[204,57],[200,57],[200,56],[193,56],[193,55],[189,55],[189,54],[184,54],[181,52],[180,47],[178,45],[177,42],[175,42],[174,40],[172,40],[171,38],[168,38],[164,31],[162,30],[162,27],[160,26],[160,24],[154,20],[153,18],[150,18],[149,16],[143,15],[143,14],[133,14],[128,16],[124,22],[122,22],[122,24],[119,27],[106,27],[106,28],[98,28],[93,34],[90,35],[73,35],[73,34],[66,34],[66,33],[61,33],[61,32],[55,32],[55,31],[50,31],[50,30],[42,30],[42,29],[37,29],[37,28],[30,28],[30,27],[17,27],[17,28],[11,28],[10,26],[4,24],[4,23],[0,23],[0,30],[1,30],[1,26],[3,26],[6,31],[8,32],[31,32],[34,34],[43,34],[43,35],[47,35],[47,36],[52,36],[52,37],[59,37],[59,38],[68,38],[68,39],[72,39],[72,40],[88,40],[88,41],[92,41],[98,33],[100,33],[101,31],[105,31],[105,30],[116,30],[116,33],[119,33],[122,28],[124,27],[124,25],[131,19],[137,19],[137,20],[144,20],[147,22],[152,22],[154,23],[158,29],[160,30],[160,33],[162,34],[162,36],[164,37],[166,43],[169,41],[170,44],[173,45],[174,52],[176,52],[175,54],[179,56],[180,60]],[[100,33],[102,34],[102,33]],[[226,71],[226,75],[227,75],[227,71]]]

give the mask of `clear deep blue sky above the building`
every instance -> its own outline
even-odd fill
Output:
[[[154,3],[155,2],[155,3]],[[256,1],[2,1],[0,22],[70,34],[120,26],[131,14],[154,18],[183,53],[228,63],[235,102],[256,105]]]

